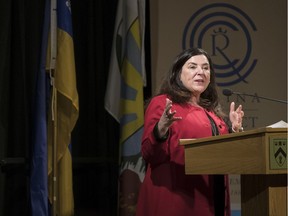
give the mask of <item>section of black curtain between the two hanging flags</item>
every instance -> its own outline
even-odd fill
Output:
[[[117,215],[118,123],[104,109],[117,1],[71,2],[80,115],[73,132],[79,215]]]

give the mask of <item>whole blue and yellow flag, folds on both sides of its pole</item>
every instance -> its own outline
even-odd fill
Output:
[[[53,11],[50,10],[52,5],[57,7]],[[57,11],[57,26],[55,22],[50,22],[50,18],[54,18],[55,11]],[[56,209],[57,215],[73,215],[72,156],[69,147],[79,107],[70,1],[46,0],[43,26],[41,63],[32,109],[34,118],[31,134],[33,144],[30,175],[31,212],[33,216],[48,216],[51,203],[53,212]],[[49,37],[55,29],[56,37]],[[54,51],[56,56],[52,56],[55,54]],[[55,68],[50,64],[51,58],[56,60]],[[51,86],[53,87],[51,98],[46,97],[50,95],[48,89],[50,85],[47,82],[50,74],[47,70],[54,72],[51,74],[54,85]],[[57,109],[54,109],[55,105]],[[54,128],[57,130],[56,133],[53,132]],[[54,147],[56,158],[53,158],[52,153]],[[53,170],[52,167],[54,159],[57,170]],[[53,182],[56,194],[53,194]]]

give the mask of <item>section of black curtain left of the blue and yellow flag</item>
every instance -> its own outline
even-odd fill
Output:
[[[0,215],[29,215],[29,119],[42,14],[42,1],[0,1]]]

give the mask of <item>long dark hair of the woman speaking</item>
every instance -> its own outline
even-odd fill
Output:
[[[199,105],[209,111],[213,111],[219,117],[225,114],[221,111],[219,97],[216,89],[215,71],[209,54],[201,48],[189,48],[181,52],[175,59],[169,73],[163,80],[159,91],[156,95],[167,94],[170,99],[179,104],[185,104],[191,99],[191,91],[189,91],[181,82],[180,75],[183,65],[188,59],[195,55],[204,55],[208,59],[210,65],[210,83],[206,90],[200,95]]]

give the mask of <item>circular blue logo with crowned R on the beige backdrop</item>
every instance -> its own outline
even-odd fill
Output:
[[[257,64],[251,38],[256,30],[240,8],[226,3],[209,4],[188,20],[182,47],[201,47],[210,53],[218,86],[248,83],[247,77]]]

